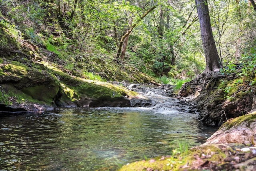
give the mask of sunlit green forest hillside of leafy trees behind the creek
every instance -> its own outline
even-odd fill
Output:
[[[255,63],[254,6],[253,0],[208,2],[225,70]],[[9,56],[92,80],[144,82],[136,78],[144,73],[165,84],[205,68],[194,0],[1,0],[0,10],[0,28],[10,36],[0,39],[1,63]],[[24,58],[14,59],[17,53]],[[254,63],[246,70],[254,72]]]

